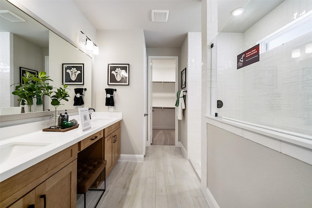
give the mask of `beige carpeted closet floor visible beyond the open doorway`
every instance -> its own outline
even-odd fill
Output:
[[[175,145],[175,130],[153,129],[152,145]]]

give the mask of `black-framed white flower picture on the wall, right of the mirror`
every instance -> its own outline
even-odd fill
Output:
[[[108,85],[129,85],[129,64],[108,64]]]

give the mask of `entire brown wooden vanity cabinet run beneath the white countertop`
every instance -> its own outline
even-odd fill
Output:
[[[120,157],[120,125],[118,121],[0,182],[0,208],[76,208],[77,161],[105,159],[108,176]],[[104,172],[94,187],[103,180]]]

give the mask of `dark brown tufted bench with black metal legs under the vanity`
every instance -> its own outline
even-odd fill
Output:
[[[90,189],[92,184],[104,170],[104,189]],[[86,193],[88,190],[103,191],[95,207],[98,206],[106,189],[106,160],[78,160],[77,163],[77,193],[84,196],[84,208],[86,208]]]

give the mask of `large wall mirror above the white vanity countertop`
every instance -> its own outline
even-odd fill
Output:
[[[20,106],[18,97],[12,95],[15,89],[12,84],[20,82],[21,69],[33,73],[46,71],[53,80],[49,83],[57,88],[63,82],[63,64],[83,64],[83,84],[68,85],[69,101],[63,101],[64,105],[59,106],[58,110],[78,108],[74,106],[76,88],[87,89],[83,91],[82,107],[91,107],[92,57],[77,50],[77,47],[57,35],[57,31],[50,30],[7,0],[0,0],[0,10],[0,107]],[[35,114],[53,111],[54,106],[49,99],[45,97],[43,105],[35,106],[32,111]],[[34,116],[26,108],[25,112],[22,114]],[[7,120],[8,115],[5,117]]]

